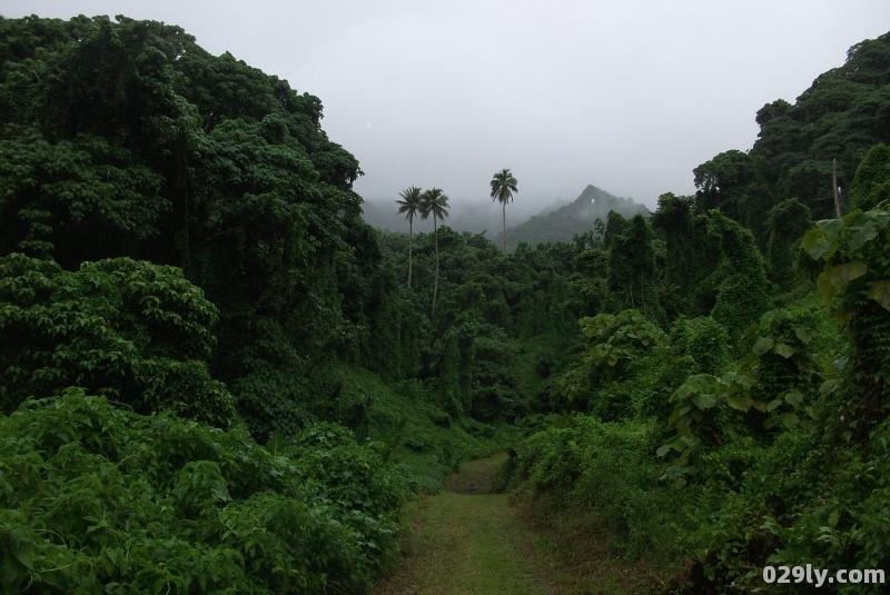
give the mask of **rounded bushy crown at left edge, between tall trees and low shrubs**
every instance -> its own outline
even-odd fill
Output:
[[[174,409],[227,426],[234,399],[206,360],[217,309],[182,271],[117,258],[67,272],[0,258],[0,408],[69,386],[147,414]]]

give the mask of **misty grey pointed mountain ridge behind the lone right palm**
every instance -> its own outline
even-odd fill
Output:
[[[575,234],[585,234],[593,229],[599,218],[605,222],[609,211],[614,210],[623,217],[631,218],[637,212],[649,216],[649,209],[630,198],[610,195],[595,186],[587,186],[573,202],[551,210],[542,211],[516,227],[507,228],[507,244],[511,249],[524,241],[530,246],[552,241],[571,241]],[[495,244],[503,241],[503,234],[495,236]]]

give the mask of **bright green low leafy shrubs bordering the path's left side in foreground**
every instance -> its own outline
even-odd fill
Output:
[[[0,436],[8,592],[357,593],[396,551],[402,482],[343,428],[273,454],[72,389]]]

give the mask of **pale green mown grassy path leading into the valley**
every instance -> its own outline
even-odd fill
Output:
[[[490,493],[501,454],[465,464],[445,492],[426,498],[405,556],[373,595],[553,593],[535,539],[507,503]]]

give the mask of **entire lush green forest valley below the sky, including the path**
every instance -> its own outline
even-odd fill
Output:
[[[887,593],[890,33],[813,77],[651,212],[394,231],[319,98],[0,18],[0,591]]]

